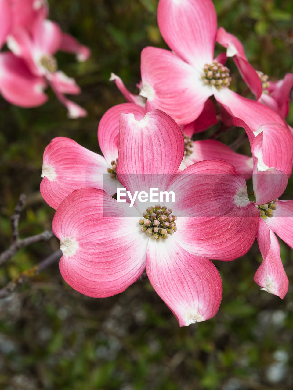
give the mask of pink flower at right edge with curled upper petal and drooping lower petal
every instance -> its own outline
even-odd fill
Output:
[[[234,124],[246,129],[254,159],[253,188],[260,213],[257,242],[263,256],[254,280],[261,290],[284,298],[288,277],[274,233],[293,248],[293,201],[278,199],[292,172],[293,138],[286,127],[278,124],[261,126],[257,133],[239,119],[234,119]]]

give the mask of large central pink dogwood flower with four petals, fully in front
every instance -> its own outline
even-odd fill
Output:
[[[155,110],[139,120],[121,113],[120,183],[132,195],[149,185],[173,190],[173,211],[166,199],[131,208],[102,189],[73,191],[53,220],[63,251],[60,271],[71,287],[92,297],[111,296],[146,268],[180,326],[216,314],[222,283],[209,259],[244,254],[255,238],[258,211],[232,165],[202,161],[176,174],[183,154],[182,132],[165,113]]]

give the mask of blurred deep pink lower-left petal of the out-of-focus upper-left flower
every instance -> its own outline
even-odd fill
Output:
[[[43,92],[46,86],[44,78],[30,73],[21,58],[8,51],[0,53],[0,93],[9,103],[26,108],[40,106],[48,99]]]

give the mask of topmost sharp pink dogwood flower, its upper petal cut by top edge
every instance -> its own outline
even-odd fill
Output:
[[[267,121],[272,122],[277,114],[268,107],[228,88],[229,69],[218,58],[214,59],[217,20],[211,0],[160,0],[158,24],[173,52],[147,47],[141,53],[140,94],[147,98],[148,111],[159,108],[178,124],[188,124],[200,115],[207,99],[214,95],[233,117],[241,117],[241,111],[253,116],[263,110]],[[240,48],[235,60],[248,86],[259,98],[261,81]],[[273,122],[283,123],[282,118]]]

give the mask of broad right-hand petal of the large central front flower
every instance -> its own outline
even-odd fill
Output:
[[[254,242],[259,211],[248,199],[244,177],[229,163],[195,163],[167,191],[175,194],[170,206],[178,217],[172,237],[189,253],[230,261]]]

